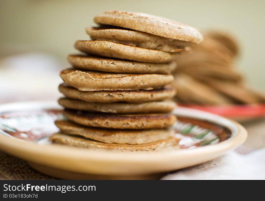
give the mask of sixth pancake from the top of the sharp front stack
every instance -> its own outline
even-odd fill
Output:
[[[175,89],[170,86],[149,91],[79,91],[64,83],[59,85],[59,91],[69,98],[97,103],[144,103],[169,99],[176,94]]]

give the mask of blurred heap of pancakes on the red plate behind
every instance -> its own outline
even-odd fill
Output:
[[[177,101],[184,104],[228,105],[264,103],[265,96],[245,85],[235,68],[239,47],[222,32],[206,32],[204,41],[184,52],[174,72]]]

